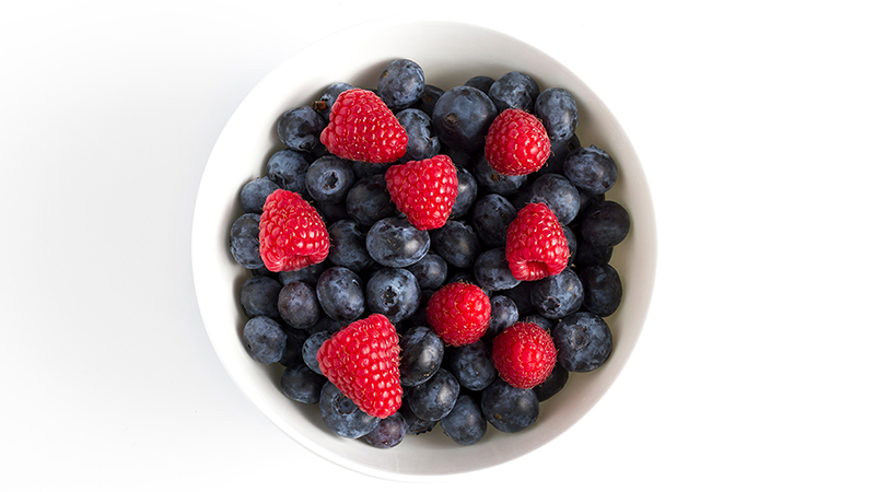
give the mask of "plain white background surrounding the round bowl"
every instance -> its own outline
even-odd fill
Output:
[[[472,3],[2,3],[0,490],[410,489],[311,454],[232,384],[190,227],[212,144],[264,75],[339,28],[438,8],[581,74],[635,144],[660,243],[607,396],[452,487],[875,489],[865,2]]]

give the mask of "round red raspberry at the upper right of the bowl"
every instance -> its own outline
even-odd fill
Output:
[[[523,109],[504,109],[486,134],[486,161],[500,174],[521,176],[544,166],[550,156],[550,137],[544,124]]]

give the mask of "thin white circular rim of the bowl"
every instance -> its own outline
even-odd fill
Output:
[[[217,142],[215,142],[212,151],[210,152],[210,155],[208,157],[207,164],[206,164],[206,166],[203,168],[203,174],[201,176],[200,184],[198,186],[197,198],[196,198],[195,208],[194,208],[194,220],[192,220],[190,254],[191,254],[191,262],[192,262],[191,273],[194,276],[194,285],[195,285],[195,291],[196,291],[196,298],[198,301],[198,307],[199,307],[199,312],[201,314],[201,320],[203,321],[205,329],[207,331],[208,338],[209,338],[211,344],[213,345],[213,350],[214,350],[217,356],[219,358],[220,363],[224,367],[225,372],[231,377],[231,379],[234,382],[234,384],[237,386],[237,388],[249,399],[249,401],[262,414],[265,414],[268,418],[268,420],[271,421],[271,423],[277,425],[282,432],[284,432],[287,435],[292,437],[293,441],[295,441],[298,444],[302,445],[304,448],[308,449],[310,452],[314,453],[315,455],[320,456],[322,458],[324,458],[324,459],[326,459],[326,460],[328,460],[330,462],[337,464],[337,465],[339,465],[339,466],[341,466],[343,468],[347,468],[347,469],[350,469],[350,470],[353,470],[353,471],[357,471],[357,472],[360,472],[360,473],[363,473],[363,475],[366,475],[366,476],[371,476],[371,477],[376,477],[376,478],[382,478],[382,479],[389,479],[389,480],[402,480],[402,481],[417,482],[417,481],[423,481],[423,480],[434,481],[435,479],[438,479],[438,480],[440,480],[440,479],[448,479],[451,477],[456,477],[456,476],[459,476],[459,475],[466,475],[466,473],[476,472],[476,471],[478,471],[480,469],[486,469],[486,468],[491,468],[491,467],[499,466],[499,465],[504,465],[504,464],[506,464],[509,461],[513,461],[515,459],[518,459],[520,457],[522,457],[522,456],[524,456],[524,455],[526,455],[528,453],[532,453],[533,450],[535,450],[535,449],[537,449],[539,447],[542,447],[544,445],[546,445],[547,443],[549,443],[550,441],[556,438],[561,433],[559,433],[557,435],[553,435],[553,436],[550,436],[546,441],[542,441],[539,444],[535,445],[534,447],[528,448],[523,454],[520,454],[517,456],[511,457],[510,459],[506,459],[506,460],[503,460],[503,461],[500,461],[500,462],[495,462],[495,464],[491,464],[491,465],[488,465],[486,467],[481,467],[481,468],[478,468],[478,469],[464,470],[464,471],[459,471],[459,472],[407,473],[407,472],[401,472],[401,471],[397,471],[397,470],[386,470],[386,469],[374,468],[372,466],[363,465],[363,464],[361,464],[361,462],[359,462],[359,461],[357,461],[354,459],[348,458],[347,456],[338,455],[338,454],[334,453],[332,450],[326,448],[319,442],[317,442],[317,441],[308,437],[307,435],[301,433],[300,431],[294,429],[294,426],[282,425],[281,424],[282,419],[279,415],[279,413],[273,408],[271,408],[270,406],[262,405],[264,403],[262,401],[260,401],[258,398],[255,398],[254,395],[252,394],[252,391],[249,391],[247,389],[247,385],[242,379],[241,375],[232,370],[232,367],[233,367],[232,361],[226,356],[224,351],[220,350],[220,344],[219,344],[219,341],[215,338],[215,333],[213,332],[213,330],[210,329],[210,326],[213,326],[213,324],[210,323],[210,316],[209,316],[209,313],[207,312],[208,311],[208,306],[206,305],[206,301],[205,301],[205,297],[203,297],[203,291],[206,289],[206,286],[203,285],[203,282],[206,281],[205,276],[203,276],[203,271],[206,271],[210,267],[209,267],[209,265],[205,265],[205,262],[201,260],[201,256],[199,255],[199,251],[205,246],[203,245],[203,242],[206,241],[205,238],[206,237],[214,237],[212,235],[205,234],[203,230],[206,227],[206,224],[205,224],[205,221],[201,219],[201,218],[205,216],[205,214],[210,213],[210,211],[207,210],[208,204],[207,204],[207,199],[205,198],[205,196],[206,196],[205,188],[209,184],[209,176],[210,176],[211,169],[214,168],[214,165],[211,165],[211,164],[214,161],[217,161],[218,159],[220,159],[219,155],[221,154],[221,151],[222,151],[222,143],[228,138],[226,133],[229,131],[229,128],[230,128],[232,121],[234,121],[236,119],[236,117],[242,112],[244,112],[246,109],[246,107],[249,104],[249,102],[253,101],[253,98],[255,97],[255,94],[257,94],[259,91],[262,91],[264,87],[269,85],[271,83],[271,81],[273,81],[276,78],[280,77],[281,73],[284,73],[288,70],[287,68],[289,66],[291,66],[291,65],[294,65],[296,59],[306,56],[306,54],[308,54],[310,51],[313,51],[314,49],[319,49],[319,47],[323,44],[325,44],[326,42],[329,42],[331,39],[342,38],[342,37],[355,36],[357,34],[371,33],[374,30],[386,30],[386,28],[390,28],[392,26],[402,25],[402,24],[423,24],[423,25],[432,25],[432,26],[434,26],[434,25],[444,25],[444,26],[447,26],[447,27],[455,26],[457,28],[480,31],[480,32],[482,32],[482,33],[485,33],[485,34],[487,34],[487,35],[489,35],[491,37],[504,38],[504,39],[506,39],[509,42],[513,42],[513,43],[516,43],[518,45],[525,46],[528,49],[530,49],[533,52],[537,52],[540,56],[544,56],[545,59],[547,59],[547,60],[549,60],[549,61],[551,61],[551,62],[553,62],[553,63],[556,63],[558,66],[564,67],[564,63],[562,63],[560,60],[556,59],[555,57],[544,52],[541,49],[539,49],[539,48],[537,48],[537,47],[535,47],[535,46],[533,46],[533,45],[530,45],[530,44],[528,44],[526,42],[523,42],[523,40],[521,40],[518,38],[513,37],[512,35],[510,35],[510,34],[508,34],[505,32],[497,31],[493,27],[487,27],[487,26],[479,25],[479,24],[471,23],[471,22],[460,22],[460,21],[457,21],[457,20],[446,20],[446,19],[436,17],[434,20],[422,21],[422,20],[415,19],[415,17],[408,16],[408,15],[397,15],[397,16],[392,16],[392,17],[386,17],[386,19],[381,19],[381,20],[363,22],[363,23],[355,24],[355,25],[352,25],[352,26],[349,26],[349,27],[332,32],[330,34],[327,34],[326,36],[323,36],[319,39],[314,40],[313,43],[310,43],[310,44],[305,45],[304,47],[302,47],[301,49],[296,50],[290,57],[288,57],[284,61],[282,61],[280,65],[275,67],[270,72],[268,72],[268,74],[265,75],[265,78],[262,78],[252,89],[252,91],[249,91],[249,93],[247,93],[247,95],[241,101],[241,103],[237,105],[235,110],[229,117],[229,120],[226,121],[225,126],[223,127],[221,133],[219,134],[219,137],[217,139]],[[576,78],[576,74],[574,74],[574,77]],[[580,79],[578,79],[578,80],[580,81],[580,83],[583,86],[586,86],[584,81],[582,81]],[[427,83],[428,83],[428,81],[427,81]],[[602,104],[604,106],[604,104],[600,102],[600,99],[598,99],[597,95],[595,95],[594,93],[592,94],[591,98],[594,98],[593,101],[595,101],[598,104]],[[615,364],[619,364],[619,366],[617,367],[617,371],[616,371],[616,375],[608,382],[605,390],[603,390],[600,394],[598,394],[593,399],[592,406],[596,405],[596,402],[604,396],[604,394],[607,391],[607,389],[610,386],[614,385],[614,383],[616,382],[616,378],[621,373],[622,367],[626,365],[626,362],[627,362],[629,355],[634,351],[634,345],[637,344],[638,339],[639,339],[640,333],[641,333],[641,330],[643,329],[643,324],[644,324],[644,320],[646,318],[646,313],[648,313],[648,311],[650,308],[650,302],[651,302],[652,295],[653,295],[653,289],[654,289],[654,283],[655,283],[655,273],[656,273],[655,212],[653,210],[653,200],[652,200],[652,197],[650,196],[650,187],[646,185],[646,178],[645,178],[643,168],[641,168],[641,164],[640,164],[640,161],[638,160],[638,155],[634,152],[634,148],[632,147],[632,144],[629,141],[628,137],[626,136],[625,131],[619,127],[619,122],[616,120],[616,118],[609,112],[609,109],[607,109],[607,107],[603,107],[600,110],[602,110],[602,113],[604,113],[603,116],[609,118],[614,122],[614,125],[616,126],[614,131],[618,132],[617,138],[619,140],[621,140],[621,141],[626,142],[626,147],[628,147],[627,151],[631,153],[631,154],[627,155],[627,157],[623,160],[623,163],[621,164],[621,166],[622,167],[627,167],[627,166],[630,166],[630,165],[634,165],[634,166],[638,167],[638,169],[637,169],[638,173],[637,174],[638,174],[639,178],[642,180],[642,184],[643,184],[643,187],[641,187],[641,189],[638,190],[639,192],[643,191],[643,196],[638,197],[638,199],[645,203],[645,207],[643,208],[643,210],[646,211],[648,216],[641,216],[640,215],[641,210],[639,210],[637,212],[635,216],[633,218],[633,220],[635,222],[635,225],[638,225],[638,224],[646,225],[644,231],[641,231],[641,233],[644,233],[648,236],[646,239],[652,245],[652,249],[649,251],[650,253],[650,257],[646,258],[645,261],[644,261],[644,263],[648,266],[648,268],[650,268],[650,270],[646,271],[645,272],[646,274],[644,276],[645,279],[648,280],[648,282],[646,282],[646,284],[639,286],[639,289],[643,289],[643,291],[639,294],[641,296],[641,301],[643,303],[642,307],[641,307],[641,309],[643,309],[643,312],[641,313],[641,320],[640,320],[640,325],[641,326],[638,327],[637,331],[634,331],[631,335],[631,338],[626,341],[626,343],[628,344],[628,350],[626,350],[626,352],[625,352],[625,354],[626,354],[625,359],[619,361],[619,362],[617,362],[617,363],[615,363]],[[632,160],[632,162],[630,162],[630,159]],[[228,197],[226,199],[230,200],[230,197]],[[591,406],[591,408],[592,408],[592,406]],[[581,415],[580,419],[582,419],[582,417],[583,415]],[[578,419],[573,423],[571,423],[571,425],[568,429],[570,429],[571,426],[576,425],[580,422],[580,419]]]

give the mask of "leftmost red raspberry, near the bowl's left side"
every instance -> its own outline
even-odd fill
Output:
[[[301,270],[328,257],[328,230],[300,195],[278,189],[265,200],[258,249],[270,271]]]

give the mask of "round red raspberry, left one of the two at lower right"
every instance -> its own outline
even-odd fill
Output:
[[[425,306],[429,325],[446,344],[453,347],[479,340],[489,328],[491,315],[492,306],[486,292],[465,282],[442,286]]]

